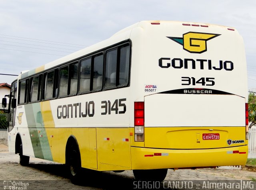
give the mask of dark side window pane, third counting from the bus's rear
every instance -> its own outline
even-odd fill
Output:
[[[94,57],[93,61],[93,82],[92,90],[100,90],[102,88],[103,75],[103,55]]]

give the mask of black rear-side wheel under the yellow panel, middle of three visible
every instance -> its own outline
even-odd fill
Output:
[[[73,184],[82,183],[82,168],[80,152],[74,143],[68,148],[67,167],[70,180]]]

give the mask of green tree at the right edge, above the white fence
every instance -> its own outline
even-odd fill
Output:
[[[256,96],[254,93],[250,92],[249,94],[249,98],[248,98],[248,119],[250,125],[249,125],[249,129],[256,125]]]

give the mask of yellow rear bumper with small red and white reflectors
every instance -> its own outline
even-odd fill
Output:
[[[133,170],[245,165],[247,157],[248,145],[192,150],[131,147]]]

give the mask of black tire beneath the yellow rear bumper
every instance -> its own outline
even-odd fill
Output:
[[[167,174],[168,169],[153,170],[133,170],[133,174],[138,181],[159,181],[162,182]]]

